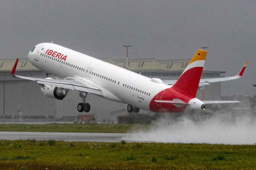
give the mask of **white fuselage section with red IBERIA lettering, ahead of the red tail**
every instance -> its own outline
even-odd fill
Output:
[[[170,88],[164,83],[152,82],[148,77],[57,44],[38,44],[33,52],[29,52],[28,58],[46,73],[61,79],[84,79],[102,91],[101,97],[148,111],[152,98],[160,90]]]

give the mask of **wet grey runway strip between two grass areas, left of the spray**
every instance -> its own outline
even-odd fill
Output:
[[[129,133],[0,132],[0,139],[54,139],[64,141],[120,142],[123,138],[129,135]]]

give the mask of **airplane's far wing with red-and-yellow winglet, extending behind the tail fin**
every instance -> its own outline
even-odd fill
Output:
[[[242,77],[243,73],[244,73],[244,70],[245,70],[245,67],[247,66],[247,63],[245,63],[245,65],[243,66],[243,68],[241,69],[241,71],[239,72],[239,74],[233,76],[233,77],[221,77],[221,78],[212,78],[212,79],[200,79],[200,82],[199,82],[199,87],[203,86],[203,85],[208,85],[210,83],[213,83],[213,82],[220,82],[220,81],[228,81],[228,80],[235,80],[235,79],[239,79],[240,77]],[[177,80],[163,80],[163,82],[165,84],[169,84],[169,85],[172,85],[174,83],[176,83]]]

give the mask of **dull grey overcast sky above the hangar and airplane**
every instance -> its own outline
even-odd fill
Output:
[[[208,70],[242,78],[221,95],[255,95],[256,1],[2,1],[0,58],[51,42],[101,58],[190,59],[208,46]]]

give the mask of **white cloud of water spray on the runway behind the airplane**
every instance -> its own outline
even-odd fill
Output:
[[[256,113],[184,113],[165,114],[152,124],[149,131],[136,131],[124,140],[255,144]]]

